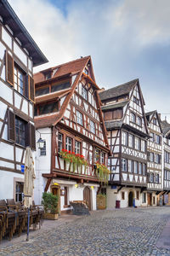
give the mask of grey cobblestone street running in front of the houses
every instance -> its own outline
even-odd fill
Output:
[[[26,236],[3,242],[0,255],[170,255],[170,243],[169,249],[156,247],[169,218],[170,207],[91,212],[31,232],[28,242]]]

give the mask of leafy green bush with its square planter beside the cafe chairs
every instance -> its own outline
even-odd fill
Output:
[[[42,205],[44,207],[44,218],[58,219],[59,196],[44,192],[42,194]]]

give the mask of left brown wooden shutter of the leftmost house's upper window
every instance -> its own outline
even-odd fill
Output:
[[[14,86],[14,60],[8,52],[6,52],[6,80]]]

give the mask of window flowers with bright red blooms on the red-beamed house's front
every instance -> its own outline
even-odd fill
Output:
[[[73,172],[75,172],[77,166],[84,166],[85,170],[88,166],[88,162],[84,159],[84,156],[82,154],[75,154],[74,152],[62,149],[59,152],[59,156],[62,157],[65,162],[69,162],[72,164]]]

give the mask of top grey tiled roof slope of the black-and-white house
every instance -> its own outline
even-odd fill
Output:
[[[118,85],[109,90],[103,90],[99,92],[99,97],[101,101],[105,101],[111,98],[115,98],[117,96],[127,95],[133,89],[133,86],[138,83],[138,81],[139,79],[134,79],[130,82]]]

